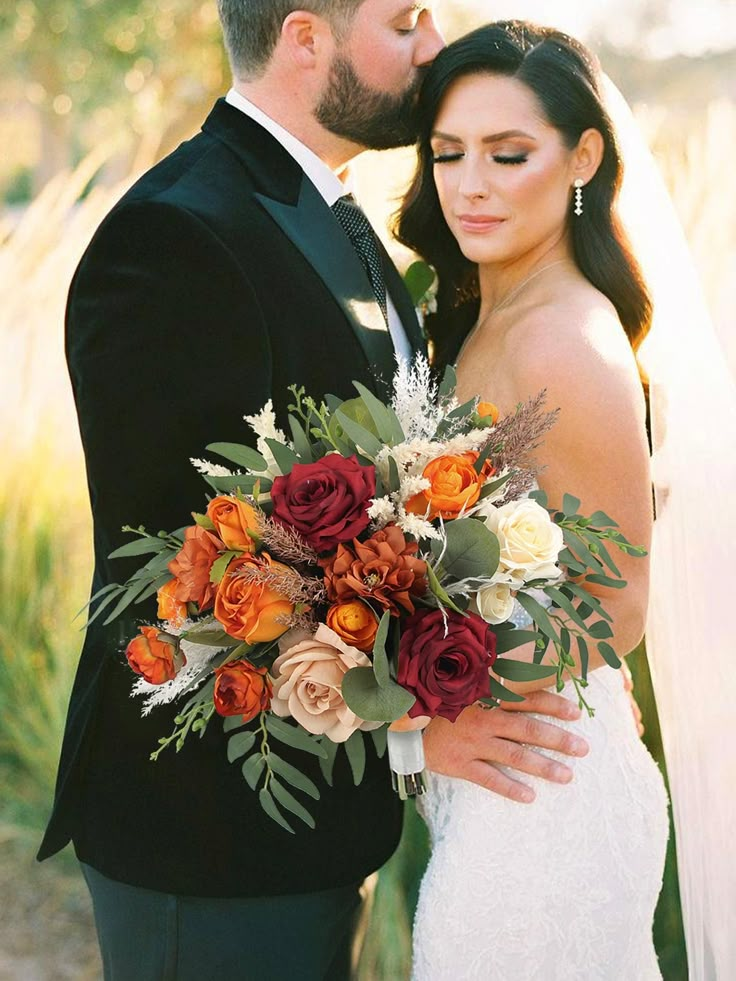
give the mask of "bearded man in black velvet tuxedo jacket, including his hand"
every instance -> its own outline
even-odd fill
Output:
[[[245,413],[273,397],[283,421],[294,382],[317,396],[349,397],[353,379],[381,391],[394,352],[421,349],[387,254],[355,235],[351,201],[335,205],[351,157],[413,141],[420,71],[442,46],[432,12],[411,0],[294,7],[220,0],[234,88],[108,215],[72,283],[93,591],[130,572],[107,558],[123,525],[186,524],[203,494],[190,457],[246,438]],[[358,887],[401,829],[385,761],[369,753],[357,788],[344,758],[334,788],[315,774],[317,830],[293,836],[227,762],[219,726],[150,763],[176,712],[142,719],[129,697],[120,652],[134,618],[155,609],[87,632],[39,853],[74,842],[106,978],[347,978]],[[568,704],[540,694],[524,707],[563,718]],[[522,745],[572,752],[553,725],[472,710],[454,729],[441,722],[427,738],[438,770],[519,799],[496,764],[569,776]]]

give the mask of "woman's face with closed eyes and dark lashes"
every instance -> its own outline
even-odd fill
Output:
[[[431,146],[445,220],[471,261],[513,262],[566,235],[576,155],[523,82],[458,79]]]

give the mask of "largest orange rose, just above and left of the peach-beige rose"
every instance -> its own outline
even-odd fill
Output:
[[[261,572],[263,578],[246,578],[242,575],[246,569]],[[247,644],[275,640],[289,629],[286,621],[294,604],[271,583],[293,576],[288,566],[274,562],[267,552],[233,559],[217,589],[215,616],[231,637]]]

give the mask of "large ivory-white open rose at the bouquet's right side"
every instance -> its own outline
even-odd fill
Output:
[[[559,577],[562,529],[536,501],[523,498],[489,509],[485,522],[501,546],[497,581],[521,585],[532,579]]]

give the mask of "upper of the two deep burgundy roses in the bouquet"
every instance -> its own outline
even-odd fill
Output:
[[[273,517],[296,528],[316,552],[326,552],[365,531],[375,495],[373,467],[330,453],[317,463],[295,463],[274,480]]]

